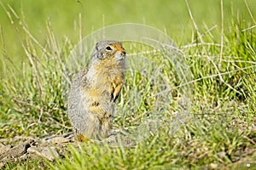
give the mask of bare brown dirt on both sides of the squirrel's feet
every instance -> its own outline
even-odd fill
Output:
[[[112,133],[102,141],[91,140],[97,144],[108,144],[111,147],[132,147],[134,142],[124,133]],[[10,144],[13,143],[13,144]],[[0,168],[8,162],[29,161],[32,159],[46,159],[54,161],[67,154],[67,145],[78,146],[74,141],[73,133],[49,136],[44,139],[32,137],[15,137],[13,139],[0,139]]]

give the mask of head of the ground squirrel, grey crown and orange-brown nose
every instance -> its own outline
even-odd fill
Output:
[[[92,55],[93,59],[109,59],[114,57],[118,61],[125,60],[125,48],[121,42],[108,40],[96,43],[95,51]]]

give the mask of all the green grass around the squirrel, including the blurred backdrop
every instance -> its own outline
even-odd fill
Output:
[[[187,66],[181,67],[187,69],[183,74],[163,51],[155,54],[142,44],[124,42],[129,70],[114,127],[138,127],[134,132],[138,138],[144,133],[143,123],[157,121],[154,133],[145,133],[133,148],[71,145],[65,158],[54,163],[22,161],[8,163],[5,169],[247,169],[247,163],[256,168],[256,30],[250,28],[256,25],[255,2],[247,0],[247,8],[245,1],[224,1],[223,11],[217,1],[189,1],[189,7],[186,1],[169,2],[132,1],[124,8],[125,1],[82,5],[68,1],[63,6],[59,1],[22,5],[9,1],[15,15],[2,1],[6,11],[0,12],[0,138],[43,138],[72,131],[66,108],[68,79],[74,70],[67,65],[81,31],[87,35],[122,22],[155,26],[173,37]],[[185,86],[182,78],[188,75]],[[191,89],[189,108],[180,105],[187,89]]]

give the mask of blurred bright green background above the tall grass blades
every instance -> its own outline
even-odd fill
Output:
[[[1,29],[1,57],[3,59],[3,47],[7,56],[14,61],[25,58],[20,41],[25,37],[18,26],[18,20],[14,14],[15,24],[9,20],[4,10],[9,7],[15,10],[20,20],[25,20],[32,36],[44,45],[47,35],[46,20],[52,24],[55,37],[58,42],[67,37],[71,42],[79,41],[79,14],[82,16],[85,37],[91,31],[118,23],[135,22],[154,26],[174,39],[178,44],[189,43],[193,24],[189,18],[189,9],[185,0],[2,0],[0,6]],[[196,24],[206,30],[212,26],[221,26],[221,1],[220,0],[189,0],[191,12]],[[253,15],[256,15],[256,1],[247,0]],[[224,24],[227,26],[232,17],[239,15],[244,20],[251,20],[244,0],[224,0]],[[253,26],[253,23],[252,23]],[[220,31],[219,31],[220,32]]]

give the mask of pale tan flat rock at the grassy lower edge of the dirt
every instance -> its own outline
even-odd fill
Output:
[[[55,147],[48,147],[48,148],[38,148],[38,147],[30,147],[27,152],[31,155],[36,155],[40,157],[44,157],[48,161],[54,161],[55,158],[59,158],[60,155],[58,154]]]

